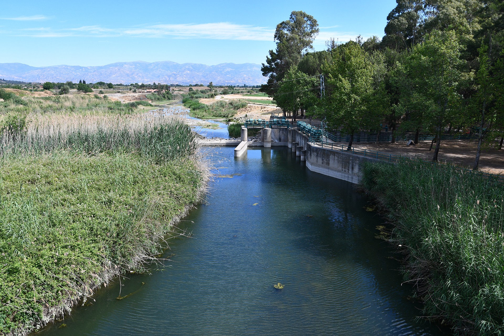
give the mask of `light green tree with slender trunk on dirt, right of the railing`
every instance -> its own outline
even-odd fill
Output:
[[[458,84],[462,76],[461,45],[454,31],[433,31],[413,48],[404,65],[400,65],[414,99],[424,108],[422,119],[426,128],[434,129],[437,161],[441,136],[447,123],[457,113],[461,96]],[[402,98],[404,101],[404,96]]]

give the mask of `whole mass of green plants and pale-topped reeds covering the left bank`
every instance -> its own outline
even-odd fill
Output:
[[[142,271],[204,191],[195,133],[92,96],[0,102],[0,333]],[[14,117],[15,116],[15,117]],[[22,120],[22,121],[20,121]]]

